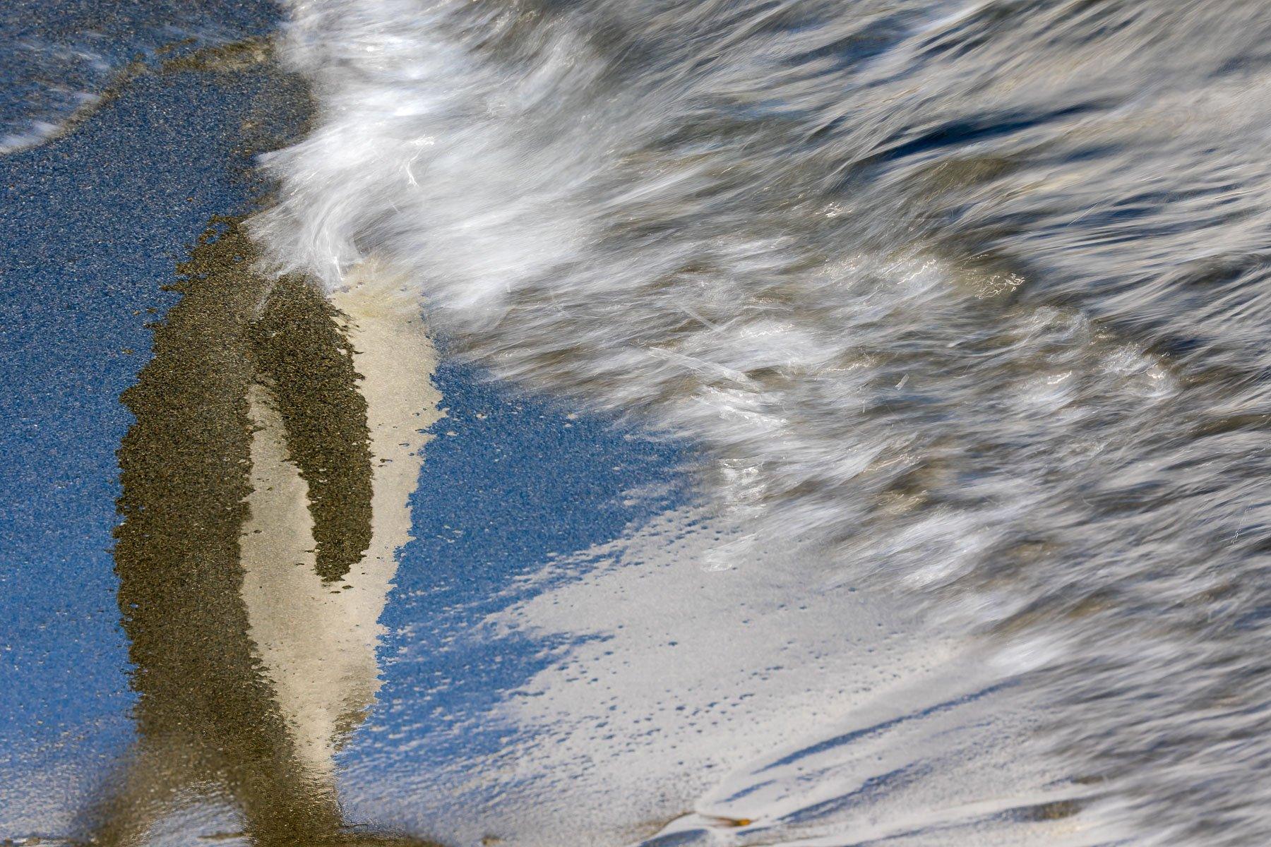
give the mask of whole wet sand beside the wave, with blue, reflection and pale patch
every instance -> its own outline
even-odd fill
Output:
[[[0,838],[750,843],[1021,808],[1012,838],[1074,829],[1063,775],[966,754],[1012,737],[965,645],[906,643],[891,601],[801,582],[792,551],[721,559],[690,448],[438,357],[384,268],[329,300],[255,274],[252,156],[306,118],[273,61],[247,36],[128,66],[0,160],[29,427],[4,443]],[[924,768],[927,794],[876,790]]]

